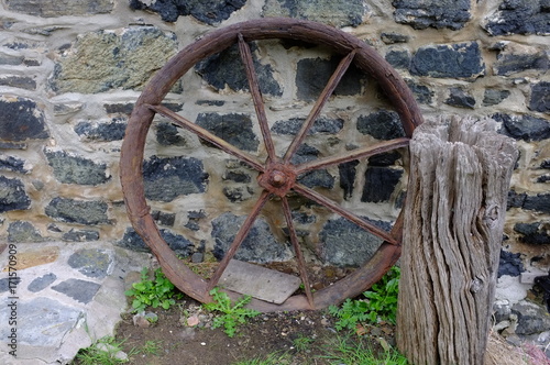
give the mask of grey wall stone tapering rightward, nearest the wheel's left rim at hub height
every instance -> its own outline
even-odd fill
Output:
[[[65,151],[44,151],[55,178],[63,184],[100,185],[109,181],[107,165],[91,159],[72,156]]]

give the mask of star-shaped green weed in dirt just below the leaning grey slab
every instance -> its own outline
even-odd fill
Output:
[[[209,311],[218,311],[222,314],[215,317],[212,329],[223,327],[223,332],[230,338],[234,336],[240,324],[246,322],[246,318],[260,314],[258,311],[244,308],[251,300],[250,296],[243,296],[234,305],[231,303],[227,292],[220,291],[218,288],[210,290],[213,302],[205,303],[205,308]]]

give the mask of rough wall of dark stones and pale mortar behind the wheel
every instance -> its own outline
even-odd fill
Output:
[[[372,45],[406,79],[426,118],[495,119],[520,151],[499,275],[506,286],[527,291],[519,274],[549,269],[547,0],[1,0],[0,7],[3,240],[90,245],[102,240],[146,250],[129,224],[119,180],[120,146],[133,102],[151,75],[201,34],[283,15],[341,27]],[[252,51],[270,112],[282,115],[272,131],[288,140],[339,58],[292,42],[258,42]],[[261,136],[246,91],[238,51],[230,47],[176,82],[166,106],[243,151],[257,152]],[[371,107],[358,107],[365,101]],[[350,69],[296,162],[403,135],[388,104],[371,80]],[[350,130],[350,119],[355,129]],[[213,161],[222,166],[215,167]],[[397,154],[373,158],[367,166],[348,163],[319,170],[301,181],[330,190],[343,206],[359,207],[387,228],[400,207],[405,176]],[[163,235],[183,256],[205,248],[221,255],[234,222],[258,193],[251,169],[162,118],[151,129],[144,180]],[[294,203],[301,240],[331,264],[356,265],[378,243],[342,219],[317,213],[310,203]],[[249,241],[255,244],[246,251],[245,243],[241,257],[265,262],[290,255],[288,246],[273,248],[272,241],[280,239],[273,228],[282,221],[270,213],[254,228]],[[320,233],[309,235],[312,229]],[[354,241],[369,242],[359,255],[346,246]]]

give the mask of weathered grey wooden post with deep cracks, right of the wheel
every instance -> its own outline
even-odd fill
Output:
[[[516,159],[491,120],[442,118],[415,131],[396,332],[410,363],[484,363]]]

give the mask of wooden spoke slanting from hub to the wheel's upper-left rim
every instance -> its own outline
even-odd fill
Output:
[[[151,110],[154,110],[155,112],[170,119],[174,123],[185,128],[186,130],[194,132],[199,136],[199,139],[205,140],[220,150],[227,152],[230,155],[235,156],[237,158],[240,158],[241,161],[245,162],[249,164],[252,168],[255,168],[258,172],[264,172],[264,166],[257,162],[255,158],[250,156],[249,154],[242,152],[241,150],[237,148],[232,144],[223,141],[219,136],[215,135],[213,133],[205,130],[204,128],[195,124],[194,122],[185,119],[184,117],[173,112],[168,108],[164,106],[147,106]]]

